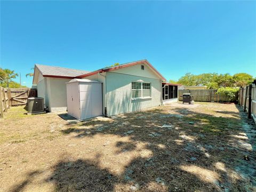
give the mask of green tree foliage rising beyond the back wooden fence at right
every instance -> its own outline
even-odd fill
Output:
[[[218,89],[219,87],[245,86],[252,81],[253,77],[246,73],[238,73],[233,76],[228,73],[203,73],[199,75],[187,73],[179,78],[177,83],[187,86],[206,85],[208,89]]]

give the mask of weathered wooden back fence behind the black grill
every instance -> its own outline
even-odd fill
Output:
[[[202,101],[202,102],[228,102],[228,98],[226,94],[217,94],[217,90],[205,89],[205,90],[179,90],[178,91],[178,99],[182,101],[182,94],[190,93],[194,96],[194,101]],[[238,100],[238,92],[236,93],[236,97],[230,102],[237,102]]]

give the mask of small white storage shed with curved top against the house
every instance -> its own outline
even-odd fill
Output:
[[[68,114],[78,119],[102,115],[102,83],[72,79],[67,83]]]

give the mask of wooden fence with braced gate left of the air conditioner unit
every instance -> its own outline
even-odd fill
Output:
[[[36,89],[6,89],[0,86],[0,117],[4,117],[4,112],[11,106],[26,105],[30,97],[37,97]]]

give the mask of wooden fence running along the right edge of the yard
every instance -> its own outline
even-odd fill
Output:
[[[248,114],[248,118],[253,118],[256,123],[256,80],[251,85],[239,89],[238,104]]]

